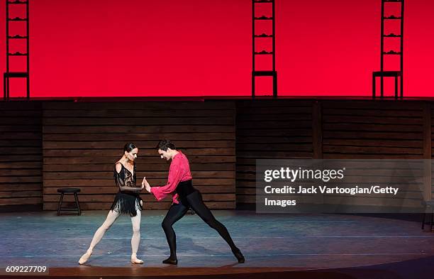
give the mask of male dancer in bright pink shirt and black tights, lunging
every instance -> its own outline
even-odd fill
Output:
[[[170,256],[163,261],[163,263],[172,265],[178,263],[177,240],[172,225],[184,217],[189,207],[191,207],[206,224],[218,231],[218,234],[229,244],[232,253],[238,259],[238,263],[244,263],[244,256],[240,249],[233,243],[226,226],[223,226],[221,222],[216,220],[211,211],[204,204],[201,193],[193,187],[187,157],[181,151],[177,151],[174,143],[170,141],[160,141],[156,148],[162,159],[172,160],[167,185],[150,187],[146,177],[143,179],[146,190],[152,193],[158,201],[172,194],[172,206],[169,208],[165,219],[162,221],[162,228],[165,231],[167,243],[170,248]]]

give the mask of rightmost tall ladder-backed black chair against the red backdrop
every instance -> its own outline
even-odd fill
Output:
[[[400,6],[399,15],[386,15],[386,9],[389,4],[396,3]],[[399,33],[384,33],[384,23],[389,21],[399,21]],[[396,40],[399,38],[399,51],[384,50],[384,40]],[[372,72],[372,98],[376,97],[375,80],[380,77],[380,97],[384,97],[384,77],[395,78],[395,99],[398,99],[398,79],[399,79],[399,97],[404,97],[404,72],[403,72],[403,54],[404,54],[404,0],[382,0],[382,34],[381,34],[381,48],[380,48],[380,70]],[[384,71],[384,55],[399,55],[399,70]]]

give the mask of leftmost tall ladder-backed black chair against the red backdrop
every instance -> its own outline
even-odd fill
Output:
[[[6,72],[3,75],[3,92],[4,99],[9,99],[9,79],[11,78],[25,78],[26,79],[26,97],[30,98],[30,67],[29,67],[29,17],[28,17],[28,1],[30,0],[6,0]],[[10,7],[15,5],[25,5],[26,16],[11,16]],[[11,34],[9,31],[10,25],[17,25],[25,23],[25,33],[24,34]],[[26,52],[21,53],[20,51],[10,50],[10,43],[15,40],[25,40],[26,41]],[[11,72],[10,61],[11,57],[26,57],[26,70],[22,72]],[[13,59],[15,60],[15,59]]]

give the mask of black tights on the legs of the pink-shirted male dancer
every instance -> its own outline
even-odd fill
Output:
[[[192,192],[190,195],[187,195],[186,199],[191,206],[191,209],[193,209],[194,212],[196,212],[196,214],[198,214],[199,217],[206,222],[206,224],[218,231],[218,234],[220,234],[221,237],[223,237],[223,239],[229,244],[230,249],[232,249],[232,251],[237,251],[238,248],[230,238],[228,229],[226,229],[226,226],[221,224],[221,222],[217,221],[208,207],[206,207],[204,201],[202,200],[201,193],[199,191]],[[174,233],[172,225],[184,217],[188,209],[189,207],[182,204],[181,202],[179,202],[179,204],[172,204],[172,207],[169,208],[165,219],[162,221],[162,228],[165,231],[167,243],[169,244],[170,248],[170,258],[177,257],[177,236]]]

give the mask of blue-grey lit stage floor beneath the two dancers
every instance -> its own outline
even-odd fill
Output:
[[[138,275],[140,270],[147,275],[193,275],[345,270],[362,266],[372,269],[399,263],[403,270],[408,264],[411,271],[415,267],[413,261],[434,256],[434,234],[422,231],[421,223],[416,221],[338,214],[264,215],[227,210],[213,213],[243,251],[244,264],[237,263],[216,231],[197,215],[187,214],[174,225],[178,266],[163,265],[161,261],[169,254],[161,227],[165,211],[143,211],[138,250],[143,265],[129,262],[131,221],[121,216],[87,264],[79,266],[77,261],[107,211],[60,217],[56,212],[16,212],[0,214],[0,268],[48,266],[50,275],[116,276]],[[426,272],[432,275],[434,268],[431,269]],[[104,270],[111,272],[101,274]]]

